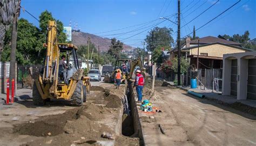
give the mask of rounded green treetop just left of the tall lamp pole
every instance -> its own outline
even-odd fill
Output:
[[[153,30],[149,32],[146,36],[146,49],[153,51],[158,46],[169,46],[173,44],[173,38],[172,38],[173,30],[172,28],[167,27],[154,27]]]

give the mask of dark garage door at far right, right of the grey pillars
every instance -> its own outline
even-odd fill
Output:
[[[248,60],[247,99],[256,100],[256,59]]]

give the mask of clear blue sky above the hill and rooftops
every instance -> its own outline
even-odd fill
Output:
[[[180,1],[181,26],[217,2],[217,0]],[[201,16],[193,20],[190,24],[182,27],[181,37],[193,31],[193,26],[199,28],[237,1],[219,0],[211,9],[201,14]],[[133,47],[143,46],[142,41],[146,38],[150,28],[154,24],[156,25],[163,21],[158,19],[159,17],[169,16],[171,20],[177,20],[177,0],[22,0],[21,5],[37,18],[42,11],[48,10],[52,13],[53,17],[61,20],[64,26],[69,26],[71,20],[72,27],[78,23],[78,27],[83,32],[97,34],[106,38],[116,37]],[[217,37],[219,34],[243,34],[248,30],[250,31],[250,38],[256,38],[255,9],[256,1],[241,0],[232,9],[198,30],[196,34],[199,37],[206,37],[208,35]],[[22,11],[20,17],[28,19],[31,23],[38,26],[38,21],[28,13]],[[173,28],[173,38],[176,40],[176,25],[170,21],[164,21],[158,26]],[[124,27],[129,28],[118,30]],[[119,34],[124,32],[129,33]],[[134,37],[131,37],[132,35]]]

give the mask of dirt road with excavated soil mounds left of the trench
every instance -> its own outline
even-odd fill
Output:
[[[32,99],[0,105],[0,145],[139,145],[138,138],[122,135],[124,86],[93,82],[87,102],[71,107],[51,100],[34,106]],[[113,134],[115,140],[101,137]]]

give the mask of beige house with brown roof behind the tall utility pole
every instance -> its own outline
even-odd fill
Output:
[[[230,53],[242,53],[251,51],[242,47],[241,43],[228,41],[224,38],[204,37],[198,40],[186,41],[181,45],[181,56],[190,59],[190,65],[197,65],[197,57],[199,58],[198,68],[223,68],[223,55]],[[178,54],[177,47],[170,52],[170,58],[176,57]]]

